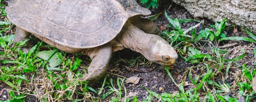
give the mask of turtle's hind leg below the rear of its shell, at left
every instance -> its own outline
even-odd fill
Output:
[[[25,30],[23,30],[23,29],[21,29],[21,28],[19,28],[19,27],[16,27],[16,35],[15,35],[15,37],[14,37],[14,44],[17,42],[17,43],[19,43],[20,41],[23,41],[23,40],[26,40],[26,39],[29,39],[29,36],[31,35],[30,33],[28,33],[27,31],[25,31]],[[29,49],[31,48],[31,47],[33,47],[34,46],[34,44],[33,44],[33,42],[31,41],[31,40],[28,40],[27,42],[26,42],[26,46],[25,47],[22,47],[21,48],[21,50],[23,51],[23,52],[28,52],[29,51]]]

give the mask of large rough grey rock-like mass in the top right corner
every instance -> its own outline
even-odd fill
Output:
[[[256,0],[172,0],[185,7],[195,17],[212,21],[228,19],[256,34]]]

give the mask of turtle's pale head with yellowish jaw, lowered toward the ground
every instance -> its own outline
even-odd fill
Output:
[[[161,65],[172,65],[178,59],[178,54],[170,44],[160,36],[154,41],[148,60]]]

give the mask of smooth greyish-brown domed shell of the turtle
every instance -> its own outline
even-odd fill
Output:
[[[44,42],[69,48],[108,43],[128,18],[149,15],[135,0],[15,0],[6,7],[16,26]]]

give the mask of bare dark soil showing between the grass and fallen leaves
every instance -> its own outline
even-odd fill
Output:
[[[171,4],[172,4],[171,8],[167,11],[168,15],[171,18],[178,18],[179,20],[183,19],[183,18],[194,18],[192,15],[190,15],[190,13],[188,11],[186,11],[186,9],[184,9],[180,5],[176,5],[176,4],[172,3],[170,0],[161,0],[161,2],[159,4],[160,6],[158,9],[150,9],[152,11],[152,15],[154,15],[160,11],[167,10]],[[201,20],[202,18],[199,18],[199,19]],[[156,18],[154,20],[154,22],[156,23],[156,25],[168,25],[169,24],[169,21],[167,20],[167,18],[165,17],[164,14],[162,14],[158,18]],[[183,23],[181,28],[187,29],[196,24],[197,24],[197,22]],[[214,22],[212,22],[208,19],[204,19],[204,26],[209,27],[209,25],[214,25]],[[202,25],[199,25],[196,28],[196,32],[199,32],[202,29],[202,27],[203,27]],[[233,28],[228,29],[226,32],[228,33],[227,36],[232,36]],[[248,35],[244,34],[243,32],[241,32],[239,29],[238,29],[238,32],[239,32],[239,34],[242,34],[242,36],[248,36]],[[249,43],[248,42],[241,43],[241,45],[245,45],[245,44],[249,44]],[[207,45],[205,45],[205,46],[207,46]],[[255,45],[252,45],[252,46],[255,47]],[[204,52],[204,51],[201,50],[201,52]],[[141,56],[141,55],[139,53],[133,52],[129,49],[124,49],[124,50],[115,52],[114,56],[113,56],[114,58],[112,58],[112,61],[110,62],[110,66],[112,66],[112,69],[109,69],[108,72],[115,73],[115,74],[118,74],[120,76],[127,77],[127,78],[133,77],[133,76],[140,77],[140,81],[138,84],[129,83],[129,84],[124,85],[127,89],[128,95],[131,94],[130,92],[132,92],[133,95],[136,95],[140,101],[146,100],[149,93],[144,88],[141,88],[140,86],[144,86],[144,87],[148,88],[149,90],[154,91],[156,93],[165,93],[165,92],[172,93],[173,91],[179,91],[179,88],[177,86],[175,86],[175,84],[172,82],[171,78],[167,75],[166,71],[164,70],[164,67],[161,65],[158,65],[156,63],[152,63],[152,65],[150,65],[149,67],[147,67],[145,65],[137,65],[137,66],[130,67],[132,69],[140,69],[140,68],[154,69],[150,72],[133,72],[131,70],[126,69],[125,66],[128,67],[129,65],[124,62],[120,62],[118,66],[115,66],[116,65],[115,61],[118,58],[131,60],[132,58],[136,58],[138,56]],[[253,57],[254,55],[247,54],[246,56]],[[145,62],[147,62],[147,61],[145,61]],[[185,69],[190,68],[192,66],[196,66],[196,65],[197,64],[187,63],[187,62],[185,62],[185,60],[183,60],[179,57],[177,62],[173,65],[173,69],[170,70],[172,77],[175,79],[175,82],[177,84],[179,84],[180,81],[185,77],[185,71],[186,71]],[[117,67],[117,69],[115,69],[114,66]],[[249,63],[248,66],[253,66],[253,64]],[[234,69],[231,69],[231,71],[232,70],[234,70]],[[201,71],[198,70],[196,73],[201,73]],[[196,74],[196,73],[193,73],[193,74]],[[108,79],[109,78],[113,78],[113,82],[116,83],[117,76],[108,74]],[[185,81],[188,81],[188,83],[191,84],[191,81],[189,80],[189,78],[186,78]],[[103,80],[99,81],[95,86],[93,86],[93,88],[101,87],[102,82],[103,82]],[[229,80],[227,80],[227,82],[232,83],[233,80],[229,79]],[[2,90],[4,88],[8,88],[8,86],[0,87],[0,90]],[[185,90],[189,90],[189,89],[194,88],[194,86],[188,85],[188,86],[185,86],[184,88],[185,88]],[[0,100],[6,99],[3,97],[3,95],[7,96],[7,98],[8,98],[7,91],[3,91],[1,94],[2,95],[0,96]],[[112,97],[112,95],[109,95],[107,98],[104,99],[104,101],[111,100],[111,97]],[[158,99],[153,98],[152,101],[158,101]],[[36,99],[34,96],[28,96],[26,98],[26,102],[38,102],[38,99]]]

